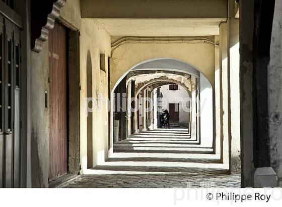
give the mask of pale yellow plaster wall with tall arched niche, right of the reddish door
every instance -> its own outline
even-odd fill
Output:
[[[108,61],[110,55],[110,35],[96,24],[95,20],[82,19],[80,41],[81,68],[81,173],[87,174],[87,117],[85,98],[87,97],[87,53],[92,62],[93,98],[99,110],[93,112],[93,166],[102,164],[108,156],[108,108],[102,97],[108,98]],[[106,72],[100,70],[100,53],[106,55]],[[101,95],[99,95],[101,94]]]

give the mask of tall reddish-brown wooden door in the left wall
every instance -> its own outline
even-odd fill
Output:
[[[67,173],[66,29],[49,33],[49,180]]]

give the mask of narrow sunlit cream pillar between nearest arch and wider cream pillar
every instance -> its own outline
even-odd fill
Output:
[[[220,24],[220,70],[221,70],[221,87],[222,87],[222,161],[229,164],[229,113],[230,113],[230,82],[228,71],[228,38],[227,23]]]

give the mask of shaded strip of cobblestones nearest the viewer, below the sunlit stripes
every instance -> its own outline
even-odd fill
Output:
[[[148,174],[83,175],[68,188],[240,188],[240,175]]]

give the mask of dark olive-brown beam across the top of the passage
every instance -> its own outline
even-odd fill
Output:
[[[227,0],[82,0],[81,5],[83,18],[224,18]]]

